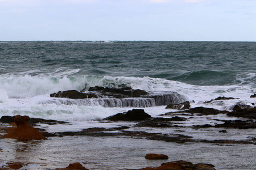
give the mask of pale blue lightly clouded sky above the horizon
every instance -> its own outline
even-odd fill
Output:
[[[256,41],[256,0],[0,0],[0,41]]]

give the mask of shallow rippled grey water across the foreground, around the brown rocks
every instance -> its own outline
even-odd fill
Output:
[[[158,167],[161,163],[187,160],[209,163],[216,169],[254,169],[255,145],[171,143],[113,137],[53,137],[40,142],[1,139],[0,162],[25,162],[22,169],[67,167],[80,162],[89,169]],[[166,154],[168,160],[146,160],[148,153]]]

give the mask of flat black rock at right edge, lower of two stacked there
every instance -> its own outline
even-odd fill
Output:
[[[242,121],[242,120],[225,121],[224,124],[217,124],[214,127],[215,128],[251,129],[251,128],[256,128],[256,122]]]

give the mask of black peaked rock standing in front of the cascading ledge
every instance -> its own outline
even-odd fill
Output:
[[[142,121],[150,118],[151,116],[144,112],[144,109],[133,109],[126,113],[118,113],[114,116],[106,117],[104,120],[110,121]]]

